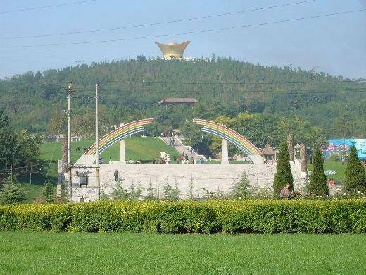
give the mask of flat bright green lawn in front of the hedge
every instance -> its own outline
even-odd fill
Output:
[[[0,233],[0,274],[366,274],[365,235]]]

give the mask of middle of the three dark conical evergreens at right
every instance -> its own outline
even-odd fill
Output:
[[[324,157],[319,147],[315,147],[313,171],[310,175],[309,191],[316,196],[329,194],[327,176],[324,174]]]

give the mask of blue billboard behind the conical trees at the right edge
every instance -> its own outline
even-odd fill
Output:
[[[348,155],[348,151],[351,146],[355,146],[358,157],[362,160],[366,160],[366,138],[346,138],[337,140],[327,140],[329,145],[324,150],[324,157],[328,159],[332,155]]]

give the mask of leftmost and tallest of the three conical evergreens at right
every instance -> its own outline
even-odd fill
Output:
[[[273,194],[278,196],[281,193],[281,189],[290,183],[291,190],[294,189],[294,178],[291,173],[290,155],[289,149],[287,148],[286,140],[281,143],[279,147],[279,154],[277,158],[277,171],[274,175],[273,181]]]

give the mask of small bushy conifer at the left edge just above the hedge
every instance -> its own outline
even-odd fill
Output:
[[[15,178],[5,178],[0,191],[0,204],[15,204],[25,200],[21,185]]]

